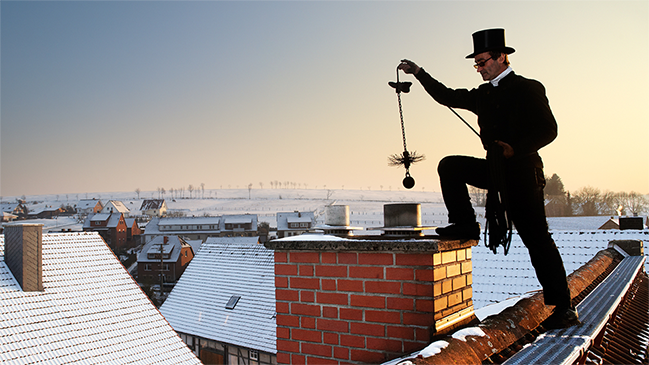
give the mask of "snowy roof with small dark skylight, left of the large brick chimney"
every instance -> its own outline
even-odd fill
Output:
[[[258,351],[275,345],[273,250],[258,237],[210,237],[160,308],[178,332]],[[240,296],[233,309],[226,304]]]

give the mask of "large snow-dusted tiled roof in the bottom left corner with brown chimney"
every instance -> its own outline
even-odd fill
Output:
[[[3,363],[200,364],[94,232],[44,234],[43,291],[24,292],[4,263]]]

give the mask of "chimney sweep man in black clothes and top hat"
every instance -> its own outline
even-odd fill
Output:
[[[548,329],[570,327],[578,324],[579,318],[570,300],[561,255],[548,232],[545,177],[538,154],[556,138],[557,123],[544,86],[515,74],[510,67],[508,55],[512,53],[514,49],[505,45],[504,29],[473,33],[473,53],[466,58],[474,59],[473,66],[487,82],[471,90],[447,88],[410,60],[402,60],[399,69],[414,75],[438,103],[476,114],[480,139],[489,151],[486,158],[447,156],[440,161],[437,170],[450,225],[438,228],[437,234],[479,238],[480,225],[467,184],[489,189],[495,178],[490,176],[494,174],[490,163],[503,161],[498,173],[502,176],[497,178],[503,181],[502,193],[507,196],[504,209],[529,251],[545,304],[555,306],[543,325]]]

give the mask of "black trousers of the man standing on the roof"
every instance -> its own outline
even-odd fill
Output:
[[[548,232],[545,217],[542,163],[526,159],[507,161],[507,212],[528,249],[536,277],[543,287],[545,304],[571,306],[570,290],[561,254]],[[475,211],[467,184],[489,188],[489,166],[486,159],[469,156],[447,156],[437,168],[449,223],[473,223]]]

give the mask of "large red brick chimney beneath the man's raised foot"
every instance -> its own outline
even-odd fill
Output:
[[[380,363],[475,319],[477,241],[322,237],[265,244],[275,250],[279,363]]]

